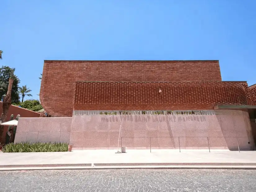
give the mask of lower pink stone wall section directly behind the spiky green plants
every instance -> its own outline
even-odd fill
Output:
[[[71,117],[19,118],[17,142],[70,142]]]

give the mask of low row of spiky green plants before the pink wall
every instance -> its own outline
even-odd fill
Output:
[[[63,152],[68,151],[68,143],[9,143],[3,146],[2,151],[5,153],[15,152]]]

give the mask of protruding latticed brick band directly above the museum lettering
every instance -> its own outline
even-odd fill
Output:
[[[159,94],[159,89],[162,93]],[[213,109],[247,105],[246,82],[76,82],[74,110]]]

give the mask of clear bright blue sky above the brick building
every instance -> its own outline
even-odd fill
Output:
[[[254,0],[2,0],[0,65],[40,90],[43,60],[219,60],[256,83]],[[28,97],[27,97],[28,99]]]

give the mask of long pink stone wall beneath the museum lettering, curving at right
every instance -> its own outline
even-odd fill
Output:
[[[116,149],[120,125],[119,147],[150,148],[151,143],[153,149],[238,150],[239,145],[240,150],[252,150],[254,146],[248,113],[234,110],[216,110],[216,115],[73,116],[70,143],[74,148]]]

